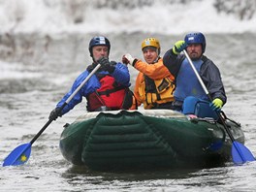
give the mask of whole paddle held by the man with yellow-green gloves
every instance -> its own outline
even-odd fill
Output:
[[[195,66],[193,65],[189,55],[187,54],[185,49],[183,50],[183,52],[184,52],[184,54],[185,54],[185,56],[186,56],[186,58],[187,58],[187,60],[188,60],[188,62],[190,64],[190,66],[192,67],[194,73],[196,74],[197,79],[199,80],[201,86],[203,87],[205,93],[208,95],[209,101],[212,101],[212,98],[211,98],[210,94],[208,93],[208,89],[207,89],[204,81],[199,76],[199,74],[198,74]],[[243,144],[240,144],[239,142],[237,142],[234,139],[230,129],[228,128],[227,124],[225,123],[225,119],[220,114],[220,112],[217,112],[217,114],[218,114],[218,117],[220,118],[220,120],[221,120],[221,122],[222,122],[222,124],[223,124],[223,126],[224,126],[224,128],[226,130],[226,132],[228,133],[228,135],[229,135],[229,137],[230,137],[230,139],[232,141],[232,159],[233,159],[233,162],[235,164],[242,164],[242,163],[245,163],[247,161],[255,161],[255,158],[252,155],[252,153],[250,152],[250,150],[246,146],[244,146]]]

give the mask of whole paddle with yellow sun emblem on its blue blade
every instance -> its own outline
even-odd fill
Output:
[[[73,97],[79,92],[80,88],[87,82],[93,74],[101,67],[100,64],[98,64],[92,72],[87,76],[86,79],[84,79],[80,86],[72,93],[71,96],[66,100],[66,102],[60,107],[61,112],[66,105],[69,104],[69,102],[73,99]],[[17,166],[22,165],[25,162],[27,162],[30,152],[31,152],[31,145],[34,144],[34,142],[41,136],[41,134],[48,128],[48,125],[52,122],[52,120],[48,120],[48,122],[45,124],[45,126],[37,133],[37,135],[31,140],[28,144],[20,144],[18,145],[4,160],[3,167],[5,166]]]

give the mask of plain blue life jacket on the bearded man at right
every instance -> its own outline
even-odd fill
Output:
[[[193,64],[198,72],[203,64],[203,60],[193,61]],[[188,96],[194,96],[199,99],[208,100],[208,96],[202,88],[199,80],[196,77],[193,69],[191,68],[188,60],[185,58],[182,61],[178,75],[176,77],[176,101],[183,102]]]

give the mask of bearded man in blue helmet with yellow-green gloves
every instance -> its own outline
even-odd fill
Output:
[[[177,41],[164,57],[164,65],[175,76],[176,90],[174,106],[185,114],[196,114],[199,117],[217,118],[223,105],[227,102],[221,75],[217,66],[206,55],[206,38],[201,32],[188,33],[183,41]],[[186,49],[201,79],[208,88],[212,102],[208,100],[200,81],[192,70],[184,54]]]

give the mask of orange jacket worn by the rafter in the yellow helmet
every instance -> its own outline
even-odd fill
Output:
[[[169,72],[169,70],[164,66],[163,59],[159,58],[158,61],[154,64],[147,64],[142,60],[138,60],[134,67],[140,71],[136,84],[134,87],[134,95],[137,100],[138,106],[144,104],[144,109],[152,108],[154,103],[162,104],[166,102],[174,101],[173,92],[175,90],[175,85],[173,81],[175,80],[174,76]],[[145,80],[144,76],[147,76],[151,80],[154,80],[156,87],[161,86],[161,82],[166,80],[168,85],[164,89],[157,89],[158,97],[155,93],[145,93]],[[161,99],[159,99],[159,96]],[[132,110],[136,108],[134,102]]]

